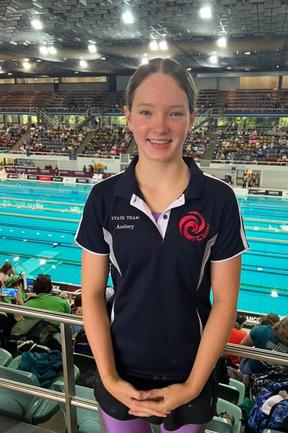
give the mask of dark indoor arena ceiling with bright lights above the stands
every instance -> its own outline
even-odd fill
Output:
[[[195,73],[287,71],[288,0],[0,0],[1,78],[131,74],[161,56]]]

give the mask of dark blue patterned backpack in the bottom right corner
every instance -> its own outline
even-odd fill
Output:
[[[274,404],[269,414],[263,412],[265,402],[280,391],[288,392],[288,381],[268,385],[259,392],[248,418],[252,432],[262,433],[265,428],[288,432],[288,398]]]

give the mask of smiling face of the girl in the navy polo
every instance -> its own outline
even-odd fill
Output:
[[[190,113],[187,95],[174,78],[161,72],[151,74],[136,88],[131,110],[124,110],[140,160],[181,159],[194,113]]]

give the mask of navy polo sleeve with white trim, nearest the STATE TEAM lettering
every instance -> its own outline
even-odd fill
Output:
[[[99,255],[109,254],[109,245],[104,239],[102,201],[97,200],[93,188],[87,198],[75,242],[83,249]]]

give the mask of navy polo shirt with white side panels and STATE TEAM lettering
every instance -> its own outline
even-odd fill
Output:
[[[119,373],[185,380],[211,309],[211,262],[247,249],[232,188],[184,160],[188,186],[157,222],[137,185],[135,158],[92,188],[76,234],[82,248],[109,254]]]

